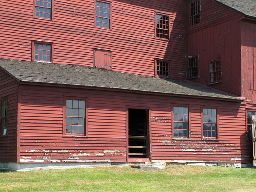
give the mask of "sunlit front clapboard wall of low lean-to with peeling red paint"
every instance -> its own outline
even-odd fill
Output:
[[[30,93],[28,95],[28,93]],[[63,136],[63,95],[86,97],[88,137]],[[21,91],[20,156],[26,162],[126,162],[126,106],[149,108],[152,160],[252,160],[244,105],[122,91],[39,87]],[[171,107],[188,106],[191,139],[172,139]],[[219,139],[202,139],[201,106],[218,107]]]

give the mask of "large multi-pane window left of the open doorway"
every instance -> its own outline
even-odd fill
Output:
[[[85,101],[66,100],[66,134],[84,135]]]

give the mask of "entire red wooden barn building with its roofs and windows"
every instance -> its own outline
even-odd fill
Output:
[[[252,163],[255,1],[0,2],[0,167]]]

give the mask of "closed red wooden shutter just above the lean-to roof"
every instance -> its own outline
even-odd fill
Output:
[[[94,66],[101,69],[112,68],[112,51],[105,49],[94,49]]]

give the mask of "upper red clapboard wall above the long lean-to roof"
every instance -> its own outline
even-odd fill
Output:
[[[54,42],[54,63],[93,65],[93,48],[112,50],[112,70],[154,76],[155,58],[185,78],[185,0],[110,0],[111,30],[94,27],[94,0],[54,0],[53,20],[33,18],[33,1],[2,1],[0,55],[31,61],[32,40]],[[170,40],[155,38],[155,12],[170,16]]]

